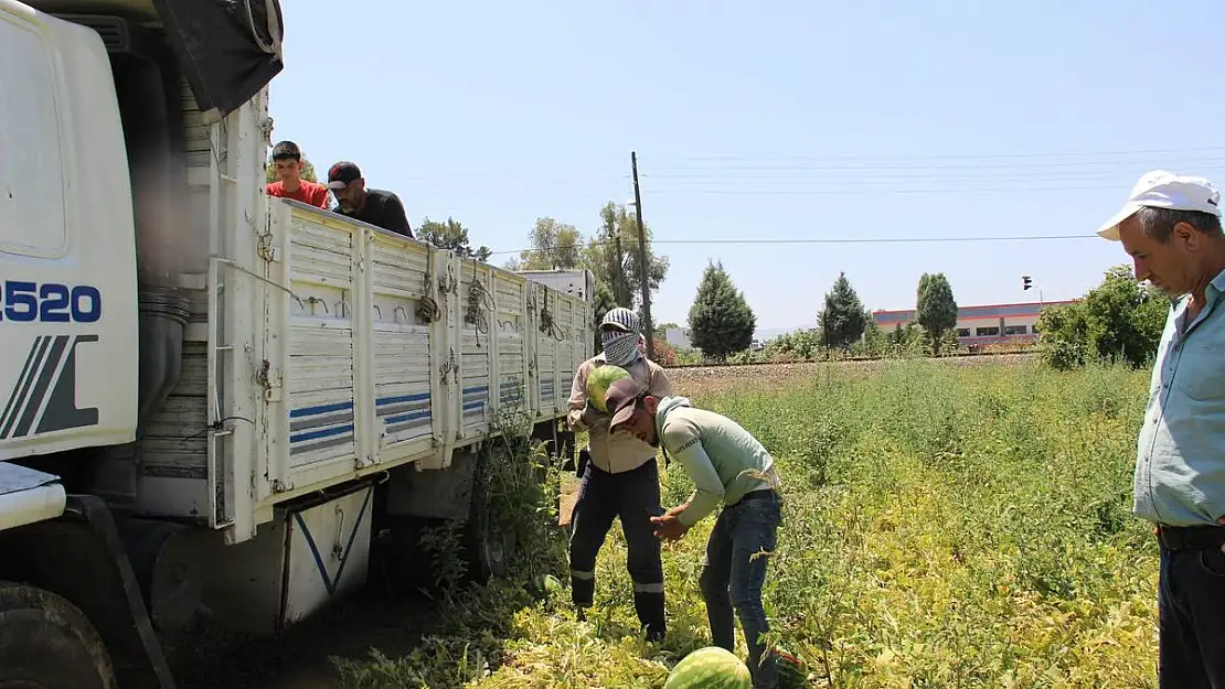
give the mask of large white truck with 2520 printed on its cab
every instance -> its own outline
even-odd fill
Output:
[[[160,630],[277,633],[405,519],[496,575],[495,416],[567,441],[590,273],[265,196],[282,18],[0,0],[0,687],[173,688]]]

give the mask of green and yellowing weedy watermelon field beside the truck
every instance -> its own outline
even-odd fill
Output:
[[[674,383],[778,461],[784,525],[764,600],[813,685],[1156,685],[1156,549],[1129,515],[1147,373],[907,361]],[[687,496],[675,466],[663,481],[665,507]],[[662,645],[635,638],[619,527],[586,622],[567,592],[532,586],[566,579],[564,536],[540,530],[513,578],[454,592],[414,655],[337,661],[343,685],[662,687],[708,644],[697,575],[712,525],[665,546]]]

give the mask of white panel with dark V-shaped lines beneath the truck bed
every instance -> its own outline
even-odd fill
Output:
[[[360,589],[370,558],[374,487],[289,512],[282,628]]]

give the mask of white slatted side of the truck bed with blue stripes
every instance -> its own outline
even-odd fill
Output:
[[[446,465],[532,378],[568,390],[590,339],[586,301],[334,213],[270,204],[265,505],[405,461]],[[554,394],[530,411],[539,421],[564,406]]]

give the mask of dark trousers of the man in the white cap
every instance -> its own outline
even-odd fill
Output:
[[[1161,546],[1161,689],[1225,689],[1225,552]]]

